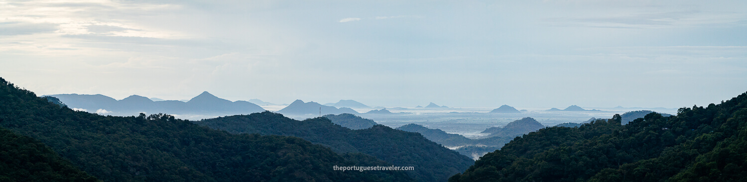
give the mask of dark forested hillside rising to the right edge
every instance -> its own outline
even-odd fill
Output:
[[[747,181],[747,93],[517,137],[450,181]]]

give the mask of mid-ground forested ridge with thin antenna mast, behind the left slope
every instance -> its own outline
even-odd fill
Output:
[[[236,134],[301,137],[340,153],[362,152],[395,166],[414,166],[415,171],[408,174],[418,181],[447,181],[451,175],[464,171],[473,163],[470,158],[444,148],[421,134],[384,125],[350,130],[324,117],[298,121],[269,111],[202,119],[195,123]]]

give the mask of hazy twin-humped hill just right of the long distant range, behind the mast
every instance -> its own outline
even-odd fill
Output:
[[[301,100],[296,100],[288,107],[283,108],[282,110],[278,110],[278,113],[282,114],[291,114],[291,115],[306,115],[306,114],[319,114],[321,110],[322,115],[327,114],[341,114],[341,113],[353,113],[357,114],[356,110],[342,107],[332,107],[332,106],[326,106],[322,105],[313,101],[309,102],[303,102]]]

